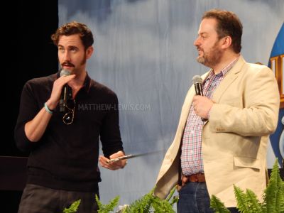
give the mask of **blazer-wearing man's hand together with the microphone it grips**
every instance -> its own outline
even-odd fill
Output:
[[[213,102],[212,100],[204,97],[202,89],[202,78],[199,75],[195,75],[192,78],[192,83],[195,86],[195,94],[193,97],[192,104],[195,109],[195,114],[201,117],[202,121],[207,121],[209,110],[211,109]]]

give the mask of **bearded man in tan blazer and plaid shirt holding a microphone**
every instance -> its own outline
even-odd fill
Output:
[[[242,25],[236,14],[204,13],[194,45],[204,96],[191,87],[178,130],[163,160],[154,194],[165,198],[180,183],[178,212],[212,212],[216,195],[236,211],[233,185],[261,194],[266,188],[268,135],[278,121],[279,93],[273,72],[241,56]],[[206,120],[206,121],[202,121]]]

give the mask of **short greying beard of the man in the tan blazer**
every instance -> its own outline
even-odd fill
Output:
[[[214,67],[217,65],[222,58],[222,50],[218,47],[218,41],[214,44],[211,50],[208,53],[205,53],[203,50],[203,56],[197,57],[197,62],[200,62],[202,65],[207,67]]]

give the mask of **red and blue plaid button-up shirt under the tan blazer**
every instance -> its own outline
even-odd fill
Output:
[[[230,62],[229,65],[224,67],[217,75],[214,75],[214,70],[209,72],[207,79],[202,85],[205,97],[212,99],[215,89],[224,79],[226,73],[231,70],[231,67],[236,64],[238,59],[239,57]],[[195,109],[193,109],[193,105],[191,104],[185,131],[182,136],[182,153],[180,160],[183,175],[204,173],[201,152],[203,124],[204,121],[201,120],[200,116],[195,114]]]

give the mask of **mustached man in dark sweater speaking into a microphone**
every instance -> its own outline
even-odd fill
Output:
[[[18,212],[62,212],[75,200],[81,200],[78,212],[97,212],[98,161],[110,170],[126,165],[126,160],[108,163],[124,156],[118,100],[87,74],[94,39],[86,25],[67,23],[52,39],[64,71],[28,81],[21,94],[15,139],[31,154]]]

